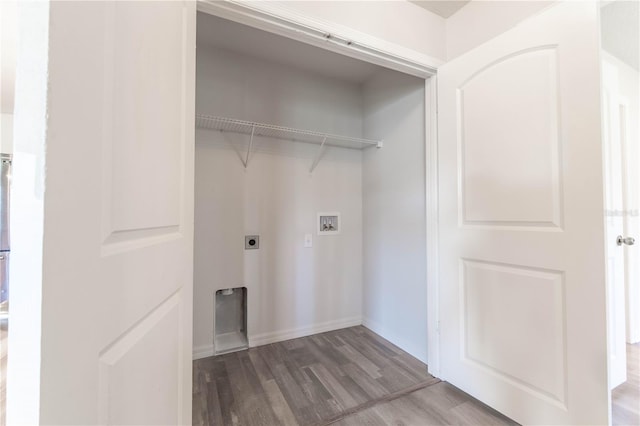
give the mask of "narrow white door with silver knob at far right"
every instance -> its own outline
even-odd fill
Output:
[[[609,327],[609,387],[627,380],[625,332],[625,250],[617,239],[628,237],[625,203],[626,174],[624,146],[625,105],[619,96],[618,72],[612,64],[602,64],[602,136],[604,144],[605,216],[607,254],[607,300]]]

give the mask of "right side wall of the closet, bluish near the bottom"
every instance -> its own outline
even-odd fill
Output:
[[[364,86],[364,325],[427,361],[424,80],[381,72]]]

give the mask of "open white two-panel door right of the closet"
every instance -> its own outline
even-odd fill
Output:
[[[441,374],[523,424],[608,421],[596,8],[438,70]]]

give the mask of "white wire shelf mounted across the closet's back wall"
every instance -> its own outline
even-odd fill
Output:
[[[365,149],[372,146],[377,148],[382,147],[382,141],[379,140],[354,138],[351,136],[334,135],[331,133],[316,132],[313,130],[295,129],[292,127],[255,123],[252,121],[236,120],[234,118],[216,117],[203,114],[196,114],[196,127],[201,129],[218,130],[221,132],[285,139],[295,142],[305,142],[339,148]]]

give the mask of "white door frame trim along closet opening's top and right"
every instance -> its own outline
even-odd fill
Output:
[[[425,80],[427,367],[438,377],[438,139],[436,70],[444,61],[275,2],[198,0],[198,12],[278,34]]]

